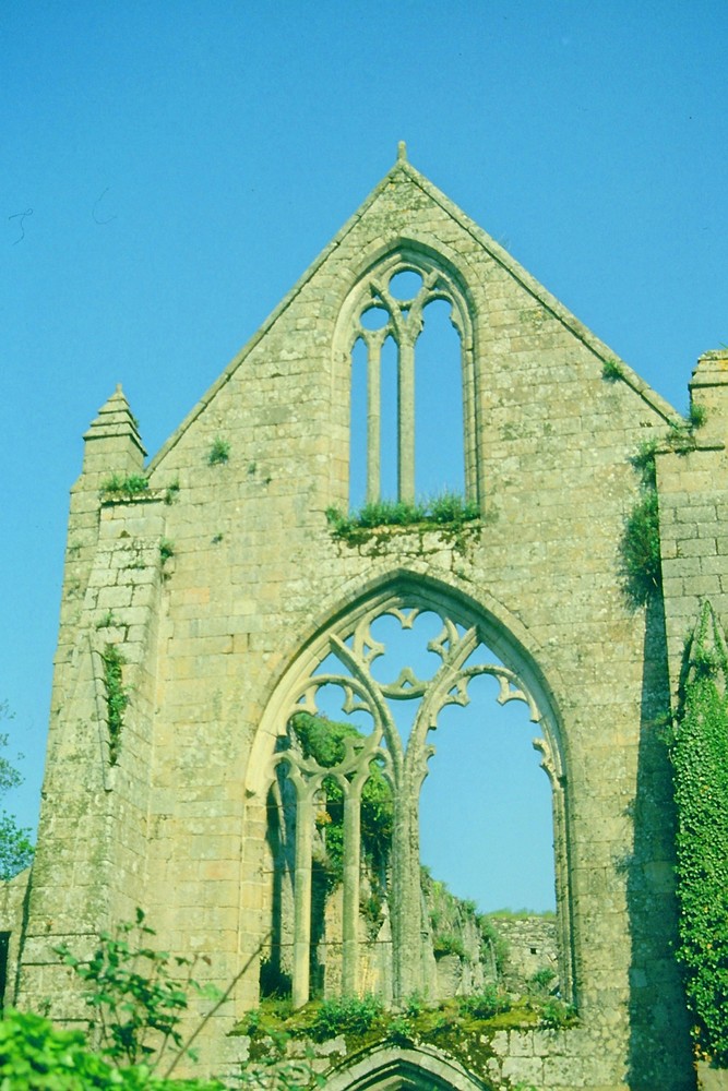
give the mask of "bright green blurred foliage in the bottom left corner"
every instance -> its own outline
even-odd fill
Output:
[[[147,1065],[117,1068],[93,1053],[82,1031],[59,1030],[41,1016],[8,1010],[0,1020],[2,1091],[223,1091],[216,1080],[154,1078]]]

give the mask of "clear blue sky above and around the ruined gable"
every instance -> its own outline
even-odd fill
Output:
[[[684,409],[728,341],[727,32],[701,0],[4,0],[0,697],[24,822],[68,489],[116,383],[154,453],[404,139]]]

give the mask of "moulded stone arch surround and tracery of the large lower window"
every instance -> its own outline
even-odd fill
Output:
[[[396,679],[378,681],[373,668],[386,648],[372,633],[372,625],[386,616],[403,631],[411,630],[422,614],[435,614],[442,623],[439,636],[427,644],[437,662],[430,676],[420,678],[406,667]],[[343,801],[342,991],[355,994],[361,987],[361,801],[362,789],[374,771],[389,786],[393,811],[387,865],[391,998],[399,1003],[423,990],[423,971],[413,952],[422,945],[419,794],[433,753],[428,733],[437,727],[438,716],[446,705],[469,703],[468,686],[484,675],[498,683],[500,704],[524,703],[541,731],[535,745],[552,788],[561,982],[564,992],[572,994],[565,760],[554,702],[535,661],[492,613],[439,582],[398,573],[369,586],[350,608],[332,610],[291,658],[268,702],[253,745],[247,783],[248,819],[253,818],[253,827],[264,825],[268,792],[282,775],[291,786],[289,792],[295,793],[295,844],[289,846],[295,1005],[305,1004],[310,996],[313,837],[322,791],[325,795],[325,787],[332,782],[338,786]],[[324,762],[301,745],[291,726],[301,714],[312,718],[323,714],[325,719],[320,694],[332,687],[341,694],[343,712],[363,714],[369,729],[354,731],[335,759]],[[397,729],[394,714],[394,708],[405,702],[416,709],[406,736]],[[277,805],[281,810],[279,794]],[[247,874],[260,874],[265,853],[263,839],[248,837],[246,846],[252,865]],[[262,909],[261,924],[265,916]],[[263,928],[259,939],[262,934]]]

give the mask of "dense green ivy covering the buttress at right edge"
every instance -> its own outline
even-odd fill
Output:
[[[678,960],[699,1058],[728,1066],[728,654],[711,604],[688,640],[669,739],[677,810]]]

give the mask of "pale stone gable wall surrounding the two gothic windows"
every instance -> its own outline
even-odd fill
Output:
[[[486,518],[464,546],[408,530],[351,547],[324,515],[346,505],[348,476],[337,319],[374,255],[403,239],[441,253],[472,308]],[[639,491],[629,459],[661,434],[665,411],[626,382],[606,381],[604,347],[556,301],[536,298],[487,242],[411,172],[395,171],[164,448],[152,494],[100,509],[98,595],[74,625],[93,633],[112,607],[133,698],[110,788],[98,787],[93,740],[82,758],[61,745],[79,709],[59,714],[44,814],[58,814],[73,763],[94,767],[83,807],[108,864],[99,883],[118,890],[107,914],[138,900],[165,946],[211,954],[210,972],[229,982],[264,927],[261,876],[246,870],[264,835],[249,760],[276,683],[301,644],[377,580],[397,572],[435,580],[508,626],[545,680],[562,741],[569,858],[560,866],[583,1022],[559,1045],[569,1075],[557,1079],[553,1062],[548,1087],[617,1088],[639,1069],[633,1087],[677,1091],[689,1056],[668,949],[668,780],[646,728],[666,699],[665,642],[659,619],[628,609],[618,555]],[[229,442],[229,461],[211,466],[216,436]],[[179,491],[168,504],[170,484]],[[164,563],[163,538],[175,554]],[[142,549],[136,570],[132,546]],[[148,589],[105,597],[111,572],[146,572]],[[79,699],[93,719],[84,684]],[[53,856],[52,824],[45,828],[44,889],[74,903],[84,896],[77,858],[91,866],[91,848],[76,847],[71,867]],[[255,988],[252,972],[243,975],[220,1027],[254,1003]],[[212,1034],[211,1043],[215,1055]],[[545,1053],[539,1078],[547,1062]]]

